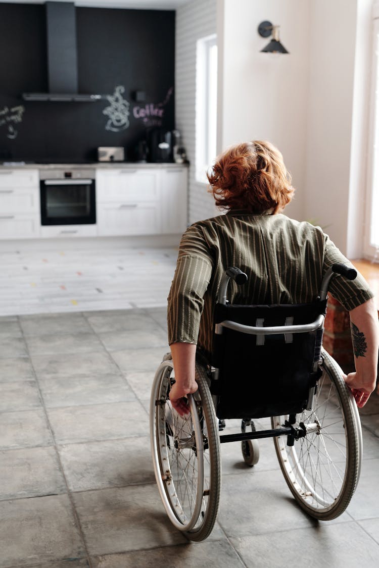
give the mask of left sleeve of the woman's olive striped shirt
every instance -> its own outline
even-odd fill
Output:
[[[181,239],[168,296],[168,342],[197,344],[203,295],[209,285],[213,259],[201,227],[191,225]]]

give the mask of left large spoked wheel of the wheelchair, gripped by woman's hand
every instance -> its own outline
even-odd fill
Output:
[[[172,361],[159,366],[152,388],[150,432],[156,482],[170,521],[189,540],[211,533],[218,513],[221,466],[218,423],[206,371],[196,365],[198,391],[189,395],[190,415],[169,401]]]

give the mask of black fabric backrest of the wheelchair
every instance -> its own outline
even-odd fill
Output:
[[[212,365],[219,418],[298,414],[318,379],[323,327],[305,333],[249,335],[220,324],[234,321],[258,328],[301,326],[325,315],[327,300],[309,304],[239,306],[217,303]]]

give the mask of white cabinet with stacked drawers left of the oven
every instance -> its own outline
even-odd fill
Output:
[[[0,239],[39,236],[38,170],[0,170]]]

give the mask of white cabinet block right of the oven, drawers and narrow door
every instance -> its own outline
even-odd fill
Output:
[[[164,235],[186,227],[187,168],[98,169],[99,236]]]

